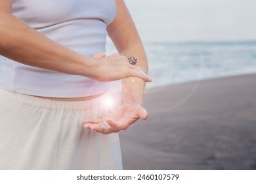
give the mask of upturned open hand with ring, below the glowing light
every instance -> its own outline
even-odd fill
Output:
[[[106,125],[103,134],[109,134],[125,130],[137,120],[146,120],[146,118],[148,118],[146,110],[138,104],[131,103],[117,108],[102,118],[86,119],[83,122],[86,129],[91,129],[96,132],[102,131],[100,124],[108,124]]]

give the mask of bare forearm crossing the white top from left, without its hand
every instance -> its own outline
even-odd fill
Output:
[[[20,63],[91,77],[92,59],[45,37],[9,13],[0,14],[0,54]]]

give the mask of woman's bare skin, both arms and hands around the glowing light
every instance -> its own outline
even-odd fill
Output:
[[[33,67],[86,76],[100,82],[122,80],[123,105],[100,119],[84,121],[85,128],[94,131],[100,131],[98,124],[108,122],[104,134],[127,129],[138,119],[147,118],[146,110],[141,107],[142,95],[145,82],[152,81],[146,74],[146,54],[125,3],[116,0],[116,5],[116,18],[107,31],[119,54],[104,56],[97,53],[93,58],[87,58],[32,29],[12,15],[11,0],[0,0],[2,56]],[[128,56],[137,56],[138,64],[131,65]]]

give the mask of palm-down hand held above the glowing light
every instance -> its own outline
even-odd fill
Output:
[[[103,53],[96,53],[93,59],[96,61],[96,72],[93,77],[100,82],[129,77],[137,77],[144,80],[144,82],[152,81],[152,78],[146,75],[138,65],[131,65],[129,59],[125,56],[119,54],[105,56]]]

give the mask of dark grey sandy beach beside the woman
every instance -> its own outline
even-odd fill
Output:
[[[256,74],[156,88],[120,133],[124,169],[256,169]]]

